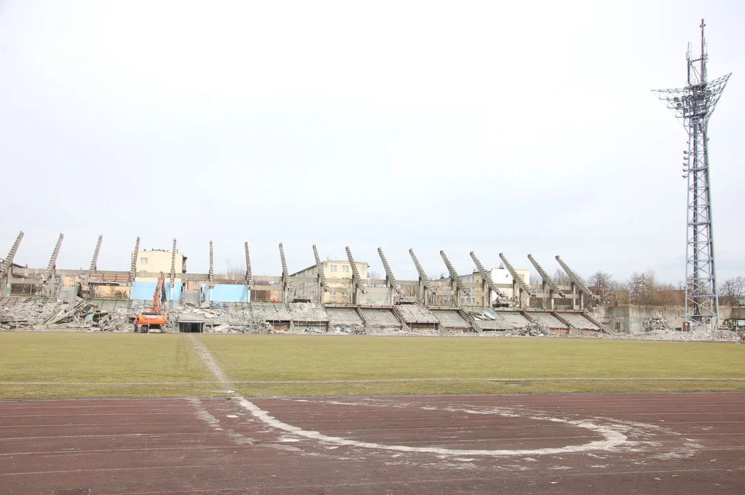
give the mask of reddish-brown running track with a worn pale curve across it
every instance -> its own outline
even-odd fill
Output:
[[[744,470],[743,393],[0,403],[0,494],[742,494]]]

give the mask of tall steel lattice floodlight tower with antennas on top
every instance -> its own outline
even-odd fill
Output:
[[[688,133],[683,152],[683,177],[688,179],[688,225],[685,242],[685,319],[706,330],[719,326],[719,297],[714,269],[714,234],[711,226],[711,179],[708,173],[708,120],[732,74],[706,80],[706,38],[701,19],[701,54],[688,45],[688,85],[655,93]]]

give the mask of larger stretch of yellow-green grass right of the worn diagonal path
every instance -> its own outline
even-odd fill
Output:
[[[745,379],[745,346],[733,344],[366,336],[200,338],[232,380],[274,382],[238,383],[244,395],[745,390],[745,380],[723,380]],[[484,380],[490,378],[521,381]],[[582,378],[606,380],[577,380]],[[709,380],[686,380],[691,378]],[[427,381],[314,383],[402,379]],[[305,383],[276,383],[283,380]]]

